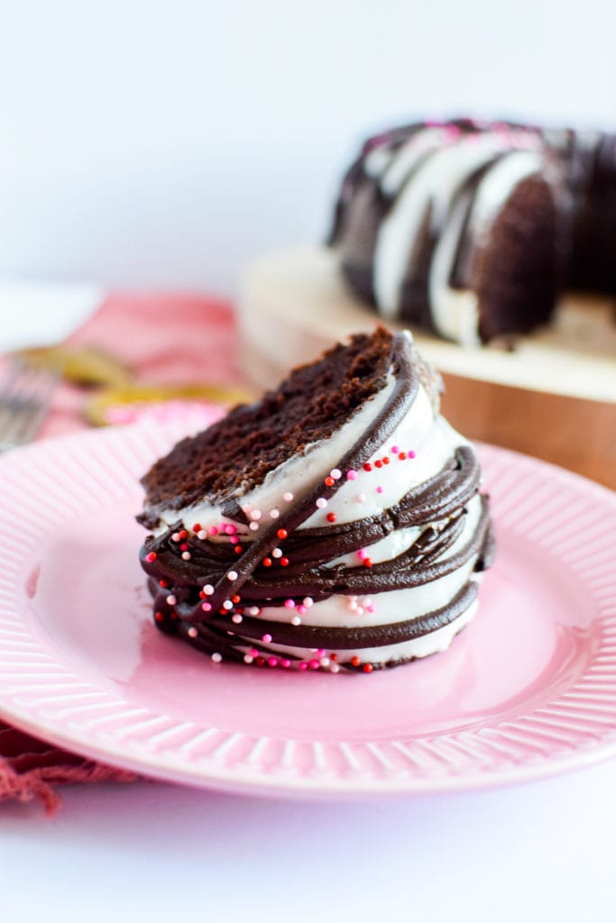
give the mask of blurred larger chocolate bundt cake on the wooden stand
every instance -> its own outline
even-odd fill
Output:
[[[616,294],[615,240],[616,135],[459,119],[369,138],[329,243],[383,318],[471,345]]]

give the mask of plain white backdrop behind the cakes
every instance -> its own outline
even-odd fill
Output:
[[[616,123],[610,0],[0,0],[0,279],[234,290],[369,131]]]

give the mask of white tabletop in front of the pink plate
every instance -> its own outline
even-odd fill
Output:
[[[455,795],[274,801],[71,786],[0,806],[2,919],[608,921],[616,761]]]

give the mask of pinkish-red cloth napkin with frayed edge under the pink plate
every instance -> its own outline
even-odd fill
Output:
[[[124,360],[143,384],[189,381],[234,386],[236,329],[231,306],[188,294],[115,294],[77,330],[67,345],[97,346]],[[85,426],[83,394],[62,385],[42,438]],[[30,737],[0,719],[0,801],[39,797],[48,812],[59,803],[56,785],[114,780],[134,773],[86,760]]]

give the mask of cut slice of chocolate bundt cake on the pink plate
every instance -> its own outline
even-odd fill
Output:
[[[379,328],[179,442],[143,478],[156,625],[213,660],[371,672],[444,650],[491,560],[475,450]]]

